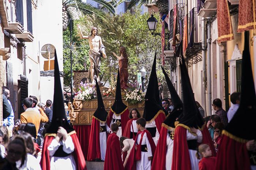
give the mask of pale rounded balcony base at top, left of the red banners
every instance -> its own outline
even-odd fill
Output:
[[[203,8],[200,9],[199,15],[201,17],[211,17],[217,10],[217,0],[206,0]]]

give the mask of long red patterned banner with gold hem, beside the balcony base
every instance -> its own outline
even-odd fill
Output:
[[[217,1],[218,43],[234,39],[227,0]]]

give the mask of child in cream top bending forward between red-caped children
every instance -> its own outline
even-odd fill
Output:
[[[127,160],[129,158],[129,155],[130,155],[130,152],[132,150],[133,144],[134,144],[134,140],[133,139],[129,139],[129,138],[124,137],[124,136],[122,136],[120,138],[120,146],[122,148],[122,152],[127,151],[126,158],[123,157],[123,159],[124,159],[124,167],[125,167],[125,165],[127,163]]]

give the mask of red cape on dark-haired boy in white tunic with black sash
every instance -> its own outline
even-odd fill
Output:
[[[154,140],[150,134],[150,132],[148,130],[144,130],[145,133],[147,134],[147,138],[148,138],[148,142],[150,143],[150,146],[151,146],[151,151],[152,151],[152,155],[153,155],[153,158],[154,158],[154,154],[155,154],[155,143],[154,143]],[[130,152],[130,155],[129,155],[129,158],[127,160],[127,163],[124,167],[125,170],[136,170],[136,159],[135,159],[135,154],[136,154],[136,150],[135,150],[135,145],[136,145],[136,141],[137,141],[137,137],[138,137],[138,134],[135,138],[135,142],[134,142],[134,145],[132,147],[132,150]]]

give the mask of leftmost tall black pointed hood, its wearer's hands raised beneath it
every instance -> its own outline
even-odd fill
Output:
[[[54,59],[54,95],[53,95],[53,113],[52,123],[47,129],[46,133],[57,134],[58,128],[61,126],[67,130],[67,132],[74,131],[72,126],[68,123],[63,100],[63,91],[60,82],[60,70],[55,50]]]

